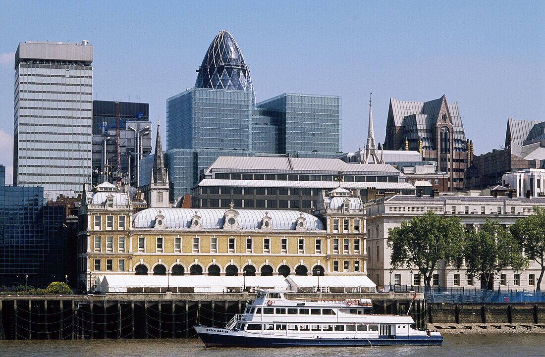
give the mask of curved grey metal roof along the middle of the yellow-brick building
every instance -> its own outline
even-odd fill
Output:
[[[134,228],[152,228],[155,224],[155,217],[159,214],[165,216],[167,228],[187,228],[191,226],[191,217],[201,217],[203,229],[221,229],[225,222],[227,209],[190,209],[190,208],[148,208],[134,215]],[[317,217],[300,211],[281,210],[254,210],[238,209],[238,223],[241,229],[260,229],[263,217],[271,217],[272,229],[288,230],[295,229],[295,222],[298,217],[304,217],[309,231],[323,231],[324,225]]]

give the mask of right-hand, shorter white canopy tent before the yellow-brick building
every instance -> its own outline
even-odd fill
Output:
[[[375,291],[377,287],[366,275],[288,275],[286,280],[289,282],[291,289],[298,293],[312,293],[316,291],[331,293],[362,293]]]

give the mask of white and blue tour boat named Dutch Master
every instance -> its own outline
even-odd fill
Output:
[[[417,330],[413,318],[370,314],[371,300],[286,299],[259,290],[225,328],[194,326],[206,347],[440,345],[438,331]]]

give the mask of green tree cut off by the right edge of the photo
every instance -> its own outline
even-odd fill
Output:
[[[526,252],[526,256],[541,266],[536,289],[541,290],[545,273],[545,208],[534,207],[534,214],[518,219],[509,227],[513,237]]]

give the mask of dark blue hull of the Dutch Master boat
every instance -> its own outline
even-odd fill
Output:
[[[393,345],[440,345],[441,336],[414,336],[399,338],[287,338],[287,337],[250,337],[233,335],[225,332],[206,332],[203,326],[195,326],[199,337],[206,347],[305,347],[305,346],[345,346],[374,347]],[[225,331],[225,330],[224,330]]]

